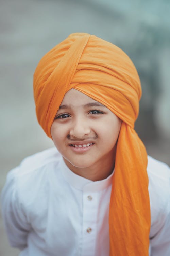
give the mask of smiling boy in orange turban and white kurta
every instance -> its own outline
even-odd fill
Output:
[[[2,213],[21,256],[170,255],[170,170],[134,131],[140,97],[129,57],[93,35],[40,60],[36,114],[58,151],[8,174]]]

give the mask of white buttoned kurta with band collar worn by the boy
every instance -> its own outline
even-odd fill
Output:
[[[170,256],[170,168],[148,157],[150,255]],[[109,256],[112,173],[87,180],[56,148],[24,159],[2,190],[5,229],[20,256]],[[134,234],[135,236],[135,234]]]

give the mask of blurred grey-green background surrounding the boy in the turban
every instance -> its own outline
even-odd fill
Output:
[[[53,146],[37,123],[32,77],[40,58],[70,33],[95,34],[133,60],[143,96],[136,131],[148,154],[170,165],[168,0],[0,0],[0,191],[7,172]],[[0,215],[0,256],[16,256]]]

